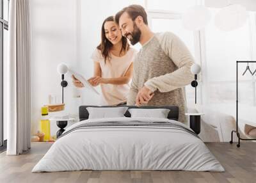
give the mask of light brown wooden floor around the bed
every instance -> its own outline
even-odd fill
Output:
[[[241,147],[229,143],[206,143],[220,161],[225,172],[195,171],[65,171],[31,173],[31,169],[47,152],[51,143],[33,143],[22,155],[0,154],[0,182],[256,182],[256,143],[242,142]]]

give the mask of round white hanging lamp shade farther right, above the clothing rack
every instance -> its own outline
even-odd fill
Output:
[[[247,20],[244,6],[233,4],[222,8],[215,16],[214,24],[221,31],[232,31],[241,28]]]

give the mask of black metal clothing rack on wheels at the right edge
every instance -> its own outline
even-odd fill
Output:
[[[235,132],[238,138],[238,144],[236,145],[237,147],[240,147],[240,140],[256,140],[256,139],[240,138],[240,134],[238,131],[238,64],[239,63],[256,63],[256,61],[236,61],[236,131],[231,132],[231,140],[229,143],[231,144],[233,143],[233,132]]]

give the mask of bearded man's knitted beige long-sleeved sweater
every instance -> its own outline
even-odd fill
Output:
[[[155,95],[148,106],[179,106],[179,121],[186,122],[184,86],[191,83],[194,59],[184,43],[173,33],[156,33],[143,45],[134,60],[134,71],[127,105],[134,105],[145,85]]]

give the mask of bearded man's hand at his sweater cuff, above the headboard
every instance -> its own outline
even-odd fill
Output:
[[[141,88],[136,97],[136,106],[141,106],[141,104],[147,104],[153,96],[154,93],[146,86],[143,86],[143,88]]]

